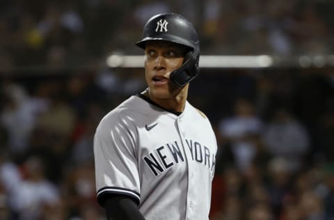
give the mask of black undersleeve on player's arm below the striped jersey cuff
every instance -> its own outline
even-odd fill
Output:
[[[104,209],[108,220],[145,220],[137,203],[129,196],[115,195],[106,198]]]

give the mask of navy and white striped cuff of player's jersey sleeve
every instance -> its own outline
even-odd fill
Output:
[[[130,196],[131,198],[134,199],[134,201],[136,201],[138,205],[141,201],[141,195],[134,190],[125,189],[122,187],[103,187],[97,191],[97,202],[100,203],[100,205],[102,205],[104,198],[113,195]]]

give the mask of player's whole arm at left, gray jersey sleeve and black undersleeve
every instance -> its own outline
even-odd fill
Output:
[[[138,210],[140,187],[136,132],[127,117],[109,114],[94,137],[97,202],[108,220],[145,220]]]

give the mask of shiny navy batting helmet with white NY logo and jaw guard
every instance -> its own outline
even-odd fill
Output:
[[[151,17],[144,26],[143,39],[136,42],[136,45],[145,49],[146,42],[150,40],[174,42],[189,48],[183,65],[170,73],[170,79],[177,86],[185,86],[198,75],[200,41],[193,24],[182,15],[163,13]]]

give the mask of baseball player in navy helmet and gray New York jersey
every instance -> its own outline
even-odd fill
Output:
[[[95,140],[97,201],[108,219],[208,219],[216,137],[186,99],[199,72],[193,25],[181,15],[151,17],[136,43],[148,88],[110,111]]]

